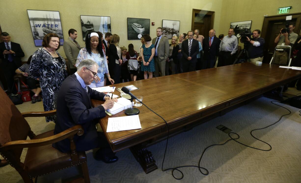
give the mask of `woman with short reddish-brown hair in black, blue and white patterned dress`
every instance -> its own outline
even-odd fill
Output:
[[[54,33],[44,36],[43,48],[34,52],[29,71],[35,79],[39,79],[42,89],[45,111],[56,109],[57,93],[61,83],[67,77],[65,59],[56,51],[60,48],[60,38]],[[56,115],[47,116],[46,122],[56,122]]]

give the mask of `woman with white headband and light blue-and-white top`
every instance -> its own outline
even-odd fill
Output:
[[[94,80],[91,85],[89,85],[90,88],[104,86],[104,75],[107,75],[111,84],[114,84],[114,80],[110,77],[106,55],[99,42],[101,41],[98,33],[92,32],[87,34],[85,40],[86,47],[79,51],[75,64],[75,66],[78,67],[79,63],[84,59],[94,60],[98,64],[98,77],[96,78],[96,81]]]

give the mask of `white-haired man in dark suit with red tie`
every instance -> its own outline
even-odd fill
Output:
[[[220,41],[215,37],[215,30],[209,31],[209,37],[203,40],[204,59],[202,69],[213,68],[216,62],[216,57],[219,54]]]

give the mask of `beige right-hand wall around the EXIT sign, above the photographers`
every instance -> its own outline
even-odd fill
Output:
[[[273,0],[223,0],[222,16],[220,19],[219,34],[228,34],[231,22],[252,20],[251,29],[262,29],[263,15],[277,15],[277,9],[292,6],[289,13],[301,12],[301,1],[273,1]],[[243,45],[240,43],[240,45]]]

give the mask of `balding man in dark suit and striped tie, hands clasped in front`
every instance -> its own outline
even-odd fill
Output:
[[[183,72],[195,71],[197,54],[199,53],[199,42],[193,38],[193,32],[188,31],[187,38],[182,43]]]

